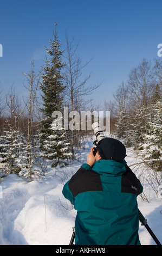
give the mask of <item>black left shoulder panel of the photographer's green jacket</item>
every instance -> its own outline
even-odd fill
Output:
[[[93,170],[80,168],[70,179],[69,189],[76,197],[77,194],[86,191],[102,191],[100,175]]]

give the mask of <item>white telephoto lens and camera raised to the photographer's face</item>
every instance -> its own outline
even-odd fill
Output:
[[[96,136],[96,141],[94,141],[94,143],[93,143],[96,146],[93,149],[93,155],[95,156],[96,152],[98,151],[98,143],[99,143],[99,141],[101,141],[101,139],[104,139],[105,136],[104,136],[104,133],[102,131],[102,128],[101,128],[101,125],[99,122],[94,122],[92,124],[92,129],[93,129],[94,135]]]

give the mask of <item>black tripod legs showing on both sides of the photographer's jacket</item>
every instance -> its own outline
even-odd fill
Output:
[[[145,219],[145,217],[141,214],[140,210],[138,209],[138,214],[139,214],[139,221],[142,223],[141,225],[144,225],[145,228],[147,229],[148,233],[150,233],[150,235],[152,236],[153,240],[155,241],[155,243],[157,243],[157,245],[161,245],[161,243],[159,242],[159,240],[157,239],[157,237],[154,235],[153,231],[151,230],[151,228],[148,226],[147,224],[147,220]],[[70,240],[69,245],[73,245],[74,243],[74,239],[75,239],[75,228],[73,228],[73,234]]]

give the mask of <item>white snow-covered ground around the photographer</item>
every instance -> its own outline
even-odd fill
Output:
[[[63,181],[67,170],[70,178],[86,162],[92,146],[92,141],[87,142],[79,155],[80,162],[73,162],[61,172],[48,168],[46,179],[27,182],[10,174],[0,181],[0,245],[69,245],[76,211],[62,195]],[[132,151],[127,151],[126,161],[128,166],[137,161]],[[162,243],[162,200],[153,192],[149,200],[142,202],[139,197],[138,207]],[[141,245],[155,245],[141,224],[139,236]]]

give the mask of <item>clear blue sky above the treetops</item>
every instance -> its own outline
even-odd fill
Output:
[[[102,82],[94,100],[112,100],[117,87],[143,58],[153,63],[162,44],[161,0],[1,0],[0,2],[0,91],[14,84],[21,97],[22,72],[44,64],[45,46],[53,39],[54,23],[62,50],[65,34],[79,43],[83,62],[93,57],[83,71],[91,73],[89,84]]]

